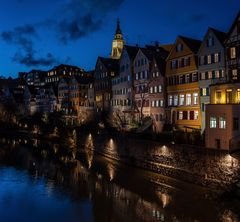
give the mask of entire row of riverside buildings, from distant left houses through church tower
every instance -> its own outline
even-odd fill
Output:
[[[122,127],[147,122],[155,132],[168,124],[230,149],[240,145],[239,44],[240,13],[227,33],[208,28],[202,40],[178,36],[145,47],[126,45],[118,21],[111,56],[98,57],[94,71],[60,65],[19,73],[15,90],[28,113],[61,110],[79,123],[105,113]]]

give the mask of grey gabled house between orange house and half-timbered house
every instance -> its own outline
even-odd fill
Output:
[[[225,38],[226,33],[209,28],[198,51],[202,132],[205,130],[205,106],[210,103],[209,86],[226,80],[224,52]]]

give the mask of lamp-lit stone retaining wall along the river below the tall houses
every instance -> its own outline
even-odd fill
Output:
[[[116,160],[204,186],[226,187],[238,181],[240,162],[226,151],[187,145],[163,145],[124,135],[82,138],[86,148]]]

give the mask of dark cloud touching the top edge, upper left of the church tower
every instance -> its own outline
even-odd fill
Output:
[[[106,15],[116,10],[124,0],[70,0],[62,7],[63,19],[55,21],[60,41],[68,43],[102,28]],[[54,22],[52,21],[51,24]]]

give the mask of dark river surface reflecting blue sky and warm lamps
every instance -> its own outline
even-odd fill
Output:
[[[209,190],[117,164],[94,154],[91,141],[76,164],[64,168],[21,148],[19,164],[0,167],[0,221],[239,221],[237,199],[212,199]],[[33,150],[39,143],[33,141]]]

